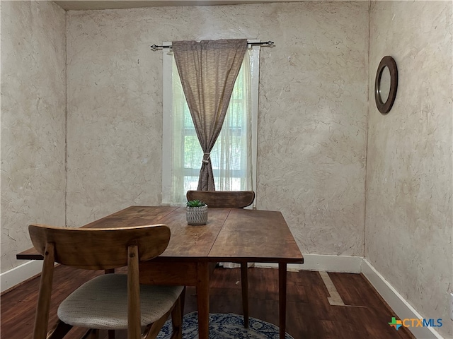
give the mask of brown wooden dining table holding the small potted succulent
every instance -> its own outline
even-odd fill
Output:
[[[165,224],[171,229],[166,250],[140,263],[140,283],[195,286],[200,339],[209,337],[209,292],[212,264],[277,263],[280,339],[285,338],[287,264],[304,263],[299,247],[283,218],[273,210],[209,208],[206,225],[188,225],[185,208],[130,206],[83,227],[127,227]],[[18,259],[42,259],[35,249]]]

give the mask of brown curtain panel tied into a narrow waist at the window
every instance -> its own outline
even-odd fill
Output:
[[[247,40],[174,41],[172,46],[185,99],[204,153],[198,190],[215,191],[210,152],[224,123]]]

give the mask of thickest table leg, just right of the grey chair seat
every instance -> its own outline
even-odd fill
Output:
[[[197,264],[198,338],[208,339],[210,334],[210,272],[207,263]]]

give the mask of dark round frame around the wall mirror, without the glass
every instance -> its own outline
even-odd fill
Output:
[[[382,102],[381,92],[381,78],[382,71],[388,67],[390,71],[390,90],[389,97],[387,97],[386,102]],[[391,107],[394,105],[396,97],[396,89],[398,88],[398,69],[396,68],[396,62],[394,58],[387,55],[382,58],[379,66],[377,67],[376,72],[376,81],[374,82],[374,100],[376,100],[377,109],[382,114],[389,113]]]

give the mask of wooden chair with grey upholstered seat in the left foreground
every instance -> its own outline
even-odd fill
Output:
[[[171,338],[182,338],[183,287],[139,285],[139,261],[159,256],[168,246],[166,225],[102,229],[30,225],[28,231],[44,256],[33,339],[62,338],[73,326],[88,328],[84,338],[98,338],[100,329],[110,334],[127,329],[128,339],[156,338],[170,314]],[[59,320],[47,333],[55,263],[87,270],[127,266],[127,274],[105,274],[81,285],[59,304]]]

